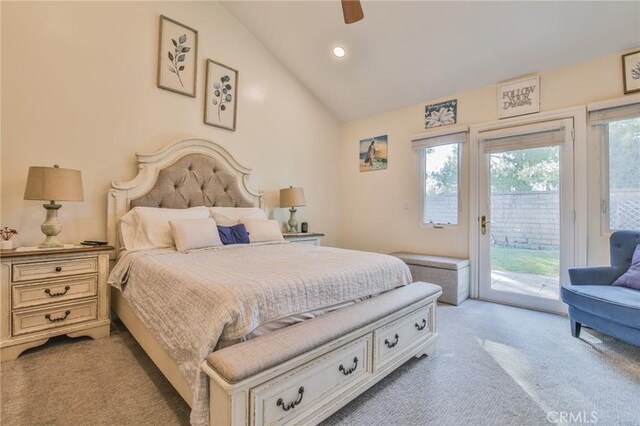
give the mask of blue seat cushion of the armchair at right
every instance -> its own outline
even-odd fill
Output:
[[[564,285],[562,300],[600,318],[640,329],[640,292],[625,287]]]

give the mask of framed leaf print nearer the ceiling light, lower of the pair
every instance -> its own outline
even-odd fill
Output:
[[[207,59],[204,123],[235,131],[237,93],[238,71]]]

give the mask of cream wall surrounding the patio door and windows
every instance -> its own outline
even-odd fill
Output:
[[[541,73],[540,110],[553,111],[622,96],[621,54]],[[458,124],[472,125],[498,119],[497,87],[491,85],[343,125],[340,167],[345,212],[344,246],[380,252],[407,250],[469,256],[468,155],[463,159],[465,180],[460,225],[444,229],[421,227],[416,154],[410,142],[412,134],[424,132],[425,105],[454,98],[458,99]],[[389,135],[389,168],[360,173],[358,141],[383,134]],[[594,145],[590,140],[588,254],[589,263],[604,264],[608,262],[608,246],[607,236],[600,236],[598,157]],[[585,164],[576,166],[587,167]]]

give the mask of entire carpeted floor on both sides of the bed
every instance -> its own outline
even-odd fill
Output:
[[[552,314],[441,305],[434,357],[412,359],[326,425],[640,425],[640,349]],[[188,406],[119,323],[1,366],[1,423],[186,425]],[[563,414],[566,413],[566,414]],[[569,417],[569,416],[573,417]],[[580,421],[576,421],[580,420]]]

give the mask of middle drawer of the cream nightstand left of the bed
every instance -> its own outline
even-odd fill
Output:
[[[97,294],[97,275],[33,284],[17,284],[11,288],[11,307],[13,309],[28,308],[96,296]]]

